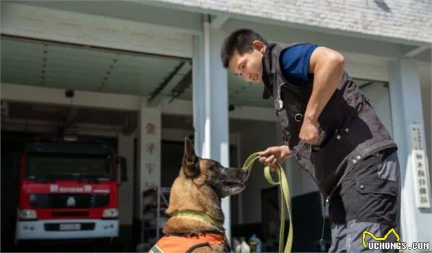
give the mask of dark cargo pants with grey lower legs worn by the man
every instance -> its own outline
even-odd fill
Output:
[[[331,196],[329,252],[383,252],[363,247],[363,231],[384,237],[392,228],[399,234],[400,168],[395,148],[383,150],[357,163]],[[389,235],[385,242],[395,242]],[[376,242],[365,235],[365,243]],[[397,252],[397,250],[394,250]]]

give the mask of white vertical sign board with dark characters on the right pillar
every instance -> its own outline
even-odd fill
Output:
[[[411,161],[414,178],[414,191],[418,208],[430,208],[429,170],[427,168],[426,152],[422,145],[423,136],[420,124],[411,124]]]

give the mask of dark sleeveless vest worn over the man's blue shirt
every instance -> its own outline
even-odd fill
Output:
[[[361,159],[379,150],[396,147],[396,144],[368,99],[346,72],[318,118],[319,144],[311,146],[300,141],[298,135],[313,82],[295,85],[295,81],[286,80],[280,71],[282,51],[278,44],[268,44],[265,50],[265,94],[274,98],[283,139],[288,142],[293,157],[311,174],[320,191],[328,196]]]

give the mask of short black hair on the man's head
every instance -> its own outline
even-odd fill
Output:
[[[221,46],[221,60],[224,68],[228,68],[232,55],[237,51],[240,55],[252,52],[252,43],[259,40],[267,46],[267,40],[251,29],[238,29],[228,36]]]

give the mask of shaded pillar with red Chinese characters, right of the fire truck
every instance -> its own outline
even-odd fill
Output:
[[[143,217],[143,191],[149,187],[160,186],[160,136],[161,111],[157,107],[147,107],[147,97],[141,98],[139,111],[139,217]]]

